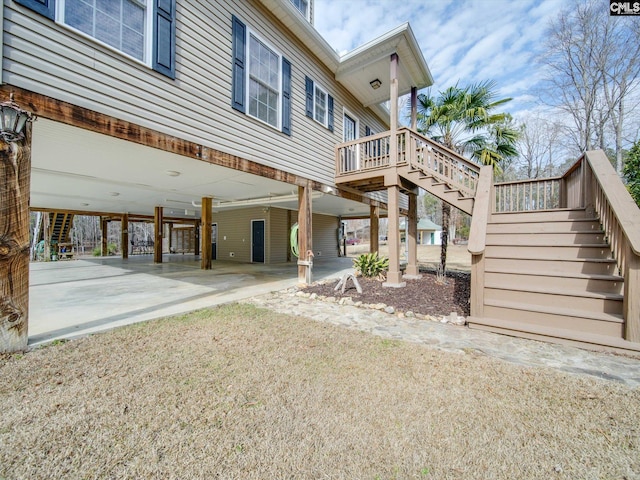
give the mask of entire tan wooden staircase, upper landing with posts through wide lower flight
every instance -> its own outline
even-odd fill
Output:
[[[387,190],[394,216],[404,191],[417,223],[417,187],[472,214],[471,328],[640,352],[640,210],[604,152],[560,177],[494,184],[492,172],[406,128],[336,147],[336,185]],[[398,243],[389,251],[397,266]]]

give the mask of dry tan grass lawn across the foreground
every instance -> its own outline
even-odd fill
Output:
[[[0,357],[0,478],[638,478],[640,391],[251,305]]]

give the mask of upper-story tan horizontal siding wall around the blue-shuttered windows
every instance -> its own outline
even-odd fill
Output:
[[[366,125],[385,130],[253,1],[178,0],[175,80],[10,0],[5,0],[4,14],[6,83],[306,178],[333,182],[334,146],[342,141],[345,106],[358,117],[360,136]],[[232,14],[292,62],[291,137],[231,108]],[[305,75],[335,99],[333,133],[305,116]]]

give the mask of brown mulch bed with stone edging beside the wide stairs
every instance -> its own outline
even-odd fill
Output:
[[[335,291],[338,280],[311,285],[305,288],[305,292],[336,299],[351,297],[354,302],[367,304],[384,303],[401,312],[411,311],[432,316],[456,312],[464,317],[469,316],[471,275],[468,272],[447,272],[445,284],[436,282],[434,271],[421,270],[420,273],[421,279],[406,280],[407,286],[404,288],[383,287],[378,280],[358,277],[362,294],[356,291],[351,281],[344,294],[341,289]]]

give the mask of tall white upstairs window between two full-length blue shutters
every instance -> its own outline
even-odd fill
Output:
[[[291,63],[232,17],[231,106],[291,135]]]

